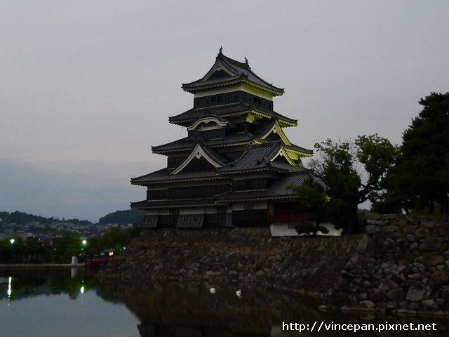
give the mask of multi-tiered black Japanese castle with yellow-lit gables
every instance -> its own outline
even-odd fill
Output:
[[[297,119],[274,111],[283,88],[257,76],[248,60],[225,56],[222,48],[201,79],[182,84],[194,95],[192,109],[169,117],[188,136],[153,146],[167,167],[131,178],[147,187],[132,209],[146,211],[144,228],[286,225],[304,220],[295,192],[311,177],[301,158],[312,151],[290,143],[284,128]],[[291,225],[290,225],[291,227]]]

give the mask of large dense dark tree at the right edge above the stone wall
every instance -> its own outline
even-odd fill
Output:
[[[422,112],[403,132],[395,166],[387,179],[386,200],[409,211],[449,211],[449,93],[420,100]]]

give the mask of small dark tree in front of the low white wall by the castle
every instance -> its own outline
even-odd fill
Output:
[[[314,237],[316,237],[317,232],[327,234],[329,230],[320,225],[328,218],[326,209],[328,197],[323,185],[309,178],[301,186],[288,185],[288,188],[296,192],[297,197],[295,199],[300,202],[307,217],[307,221],[296,226],[298,234],[311,233]]]

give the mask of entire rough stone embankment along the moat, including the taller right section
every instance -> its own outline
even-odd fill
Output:
[[[449,314],[447,218],[368,216],[366,233],[272,237],[268,227],[148,230],[98,277],[257,282],[323,296],[324,308]]]

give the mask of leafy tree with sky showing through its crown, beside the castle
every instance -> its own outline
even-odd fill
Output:
[[[394,163],[396,146],[376,133],[354,141],[328,139],[314,147],[319,157],[310,166],[328,187],[330,220],[342,234],[354,234],[359,231],[358,204],[380,199],[381,183]]]

